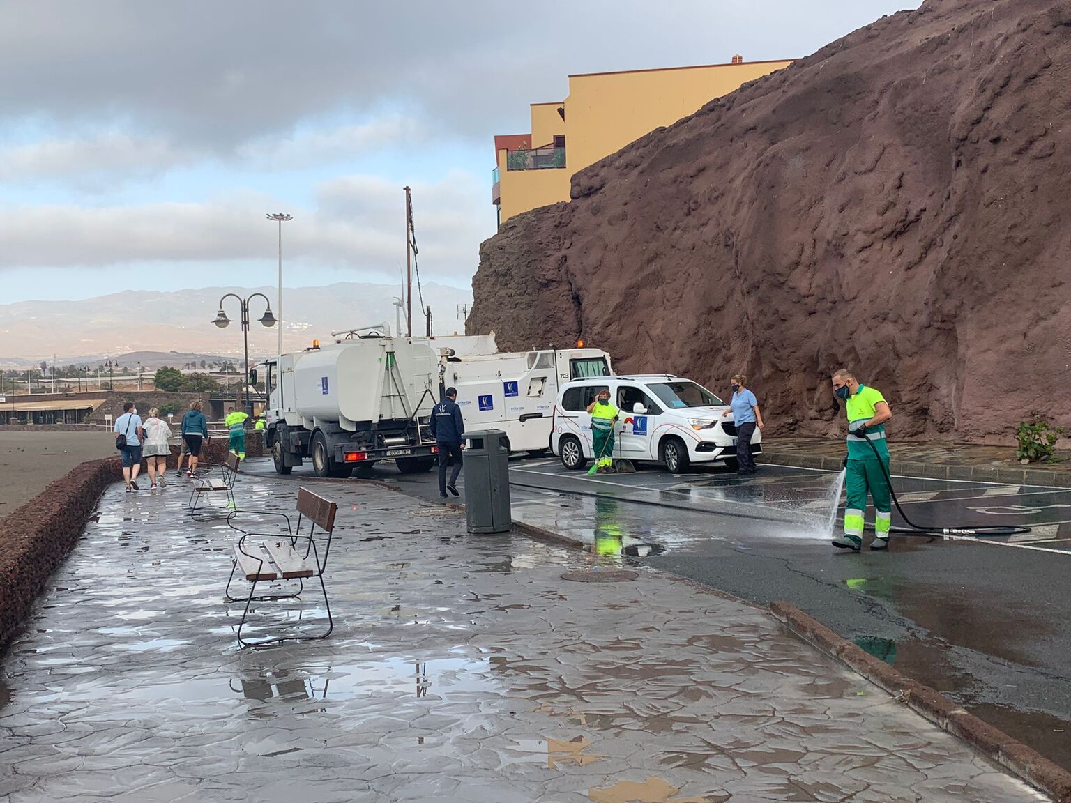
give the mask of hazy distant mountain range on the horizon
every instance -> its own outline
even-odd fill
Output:
[[[277,315],[276,290],[271,287],[208,287],[178,292],[125,290],[81,301],[20,301],[0,304],[0,368],[33,365],[42,360],[60,365],[91,363],[106,357],[123,355],[124,363],[137,362],[130,352],[181,352],[178,362],[195,359],[211,362],[210,354],[235,358],[242,353],[242,331],[238,302],[228,298],[224,309],[232,323],[213,325],[220,298],[225,293],[262,292]],[[340,282],[326,287],[285,288],[284,348],[297,349],[312,339],[326,339],[332,331],[388,323],[395,327],[394,298],[398,288]],[[436,334],[464,332],[465,321],[457,309],[471,305],[468,290],[426,284],[424,303],[432,307]],[[413,298],[413,332],[424,333],[420,298]],[[250,355],[263,357],[277,348],[277,330],[262,327],[263,299],[253,299],[250,307]],[[405,320],[403,316],[403,327]],[[149,365],[150,360],[140,360]]]

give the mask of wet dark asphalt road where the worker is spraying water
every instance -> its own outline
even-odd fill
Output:
[[[381,464],[375,475],[438,498],[434,472],[402,475]],[[829,544],[834,483],[828,472],[768,466],[743,479],[657,468],[590,476],[553,459],[511,460],[515,516],[589,543],[620,532],[651,547],[639,551],[649,557],[622,560],[761,605],[786,600],[1071,767],[1071,491],[894,478],[917,524],[1034,531],[978,541],[894,535],[887,552],[854,554]],[[893,526],[902,524],[894,512]]]

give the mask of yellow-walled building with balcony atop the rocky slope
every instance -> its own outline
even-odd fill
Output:
[[[694,113],[790,60],[569,76],[569,96],[531,104],[531,132],[495,137],[492,201],[499,224],[569,200],[573,173],[662,125]]]

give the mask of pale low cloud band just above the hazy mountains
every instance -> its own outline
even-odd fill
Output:
[[[413,209],[425,278],[466,283],[479,261],[478,243],[494,233],[486,185],[455,171],[442,182],[413,184]],[[405,199],[401,186],[378,178],[343,177],[318,186],[311,209],[243,193],[203,203],[0,207],[0,272],[32,268],[88,270],[156,263],[273,259],[274,224],[284,209],[288,260],[396,275],[405,261]]]

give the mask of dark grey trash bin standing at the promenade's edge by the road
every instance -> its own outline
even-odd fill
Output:
[[[465,433],[465,516],[468,531],[509,532],[510,450],[501,429]]]

